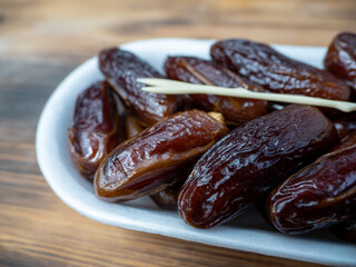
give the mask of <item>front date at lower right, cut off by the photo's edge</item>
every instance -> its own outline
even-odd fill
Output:
[[[347,139],[289,177],[267,199],[273,225],[283,233],[305,234],[355,217],[355,165],[356,144]]]

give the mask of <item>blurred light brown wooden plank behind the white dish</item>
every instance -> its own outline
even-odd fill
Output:
[[[356,29],[355,0],[1,0],[2,50],[11,55],[93,55],[155,37],[244,37],[326,46]]]

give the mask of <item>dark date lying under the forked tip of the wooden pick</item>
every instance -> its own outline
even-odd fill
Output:
[[[142,91],[137,78],[164,78],[151,66],[134,53],[109,48],[99,55],[99,68],[116,89],[123,103],[147,125],[152,125],[179,109],[176,96]]]

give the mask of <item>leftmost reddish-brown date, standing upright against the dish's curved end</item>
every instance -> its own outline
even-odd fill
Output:
[[[110,86],[97,82],[79,95],[69,151],[80,174],[93,179],[101,160],[125,138]]]

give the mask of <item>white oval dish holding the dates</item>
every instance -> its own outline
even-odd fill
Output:
[[[162,71],[168,55],[209,57],[212,40],[152,39],[122,44]],[[275,46],[291,58],[322,67],[325,48]],[[103,224],[159,234],[212,246],[254,251],[328,265],[356,265],[356,246],[343,243],[328,231],[303,237],[277,233],[251,210],[229,224],[199,230],[186,225],[177,212],[158,209],[148,197],[125,204],[96,198],[92,185],[78,174],[67,148],[77,96],[92,82],[103,79],[97,57],[75,69],[53,91],[40,117],[36,148],[40,169],[57,194],[78,212]]]

